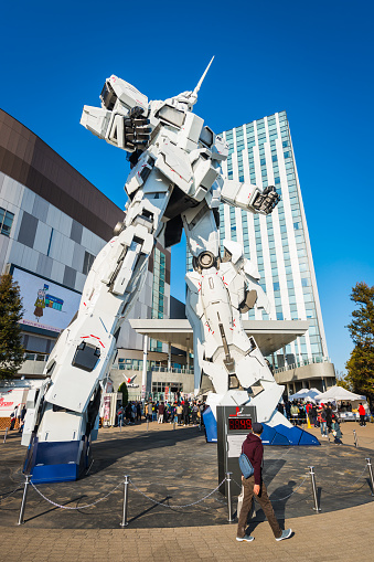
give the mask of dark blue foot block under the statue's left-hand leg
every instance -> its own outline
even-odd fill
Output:
[[[32,475],[34,484],[72,481],[88,468],[88,457],[87,437],[61,443],[39,443],[34,438],[29,445],[23,471]]]

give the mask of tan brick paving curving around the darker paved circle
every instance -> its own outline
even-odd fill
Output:
[[[353,428],[356,430],[362,455],[371,455],[374,449],[374,424],[365,428],[357,424],[346,423],[342,425],[343,441],[350,447],[336,447],[339,450],[353,449]],[[133,435],[141,435],[145,427],[131,428]],[[169,427],[169,430],[171,430]],[[153,432],[162,432],[165,428],[156,427]],[[179,432],[190,432],[189,428],[180,428]],[[117,430],[105,430],[103,438],[110,444],[117,443]],[[318,430],[311,433],[318,435]],[[160,434],[162,435],[162,434]],[[154,438],[152,437],[152,438]],[[1,434],[0,434],[1,439]],[[10,443],[18,441],[12,436]],[[8,444],[7,444],[8,445]],[[7,447],[6,445],[6,447]],[[328,453],[329,447],[324,443],[323,450]],[[0,442],[1,464],[3,464],[4,452],[2,439]],[[154,449],[157,454],[158,449]],[[162,450],[162,448],[160,449]],[[322,447],[320,448],[322,450]],[[333,449],[334,450],[334,449]],[[7,457],[11,454],[9,447]],[[343,457],[345,458],[345,457]],[[368,496],[368,489],[365,492]],[[329,561],[351,562],[359,558],[367,561],[374,560],[374,498],[367,498],[368,502],[339,511],[311,513],[309,516],[289,518],[286,513],[285,528],[291,527],[295,536],[286,541],[276,542],[273,538],[267,522],[255,522],[252,524],[252,534],[255,541],[252,543],[238,543],[235,541],[236,524],[216,523],[204,526],[172,527],[173,518],[169,519],[168,527],[133,528],[131,523],[126,529],[113,526],[111,529],[104,529],[97,524],[96,529],[58,529],[51,528],[53,519],[58,520],[57,513],[62,510],[50,511],[47,524],[45,518],[35,518],[34,526],[31,521],[17,527],[18,509],[20,498],[13,505],[11,500],[3,502],[0,510],[0,561],[17,562],[30,561],[271,561],[296,562]],[[8,506],[8,507],[7,507]],[[10,507],[11,511],[9,511]],[[15,509],[14,509],[15,508]],[[45,511],[47,508],[45,508]],[[93,508],[92,511],[95,511]],[[205,513],[206,518],[212,517],[211,511]],[[11,517],[11,523],[9,516]],[[87,519],[89,520],[89,517]],[[92,516],[97,521],[97,516]],[[109,513],[101,513],[103,518]],[[221,517],[221,516],[220,516]],[[117,518],[118,519],[118,518]],[[189,519],[189,518],[188,518]],[[214,521],[218,519],[213,518]],[[52,520],[52,523],[51,523]],[[38,521],[40,521],[38,523]],[[151,520],[150,520],[151,521]],[[36,522],[36,523],[35,523]],[[103,524],[105,521],[103,521]],[[39,527],[38,527],[39,524]],[[35,527],[36,526],[36,527]],[[55,526],[54,527],[58,527]],[[117,528],[116,528],[117,527]]]

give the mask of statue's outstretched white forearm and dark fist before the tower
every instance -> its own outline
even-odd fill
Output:
[[[222,200],[252,213],[270,214],[280,201],[280,197],[273,185],[260,191],[256,185],[235,180],[225,179],[222,180]]]

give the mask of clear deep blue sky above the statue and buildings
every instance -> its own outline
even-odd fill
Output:
[[[329,352],[339,370],[360,280],[374,285],[373,2],[30,2],[1,8],[0,107],[119,206],[125,152],[82,126],[117,74],[150,99],[192,89],[215,61],[195,110],[216,131],[287,110]],[[172,251],[184,298],[184,247]]]

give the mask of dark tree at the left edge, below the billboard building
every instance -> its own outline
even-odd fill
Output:
[[[21,368],[24,349],[21,343],[22,299],[11,275],[0,276],[0,379],[12,379]]]

